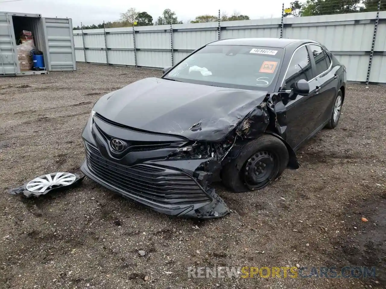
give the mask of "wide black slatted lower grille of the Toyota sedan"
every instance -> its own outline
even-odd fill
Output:
[[[105,183],[153,202],[183,205],[210,201],[192,178],[178,171],[120,165],[104,158],[90,143],[86,143],[86,160],[89,169]]]

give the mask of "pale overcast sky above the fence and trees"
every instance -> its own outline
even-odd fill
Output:
[[[166,8],[176,12],[179,20],[193,20],[198,15],[218,15],[218,9],[231,14],[237,11],[251,19],[281,17],[283,0],[0,0],[0,11],[39,13],[43,17],[72,18],[73,26],[115,21],[130,7],[146,11],[154,21]],[[290,1],[284,1],[289,5]]]

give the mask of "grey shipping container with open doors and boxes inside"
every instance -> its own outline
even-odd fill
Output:
[[[30,51],[24,49],[26,45],[20,44],[30,39],[29,32],[33,38],[34,48],[43,55],[45,67],[40,70],[33,70],[32,63],[30,69],[26,68],[29,67],[29,62],[26,63],[25,59],[28,57],[28,61],[32,62],[32,56]],[[70,18],[46,18],[40,14],[0,12],[0,76],[75,70],[74,38]]]

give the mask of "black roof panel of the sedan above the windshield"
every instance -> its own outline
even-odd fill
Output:
[[[265,46],[284,48],[287,45],[300,45],[306,42],[314,42],[313,40],[303,39],[287,39],[287,38],[234,38],[223,39],[215,42],[211,42],[208,45],[244,45],[244,46]]]

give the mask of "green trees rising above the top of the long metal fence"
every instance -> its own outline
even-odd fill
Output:
[[[290,3],[291,12],[284,13],[284,17],[290,15],[295,17],[339,14],[350,12],[367,12],[376,11],[378,9],[378,0],[305,0],[301,2],[295,0]],[[386,1],[381,2],[381,11],[386,10]],[[220,21],[234,20],[249,20],[249,16],[242,15],[238,12],[227,15],[222,13]],[[188,23],[205,23],[217,22],[218,16],[204,14],[197,16],[194,20]],[[106,22],[106,28],[112,27],[130,27],[130,26],[147,26],[147,25],[168,25],[168,24],[183,24],[178,20],[176,13],[170,9],[165,9],[162,16],[159,16],[154,22],[153,17],[147,12],[138,12],[135,8],[129,8],[126,12],[121,13],[120,19],[114,22]],[[103,23],[83,26],[83,29],[98,29],[103,28]],[[80,30],[81,27],[74,27],[74,30]]]

